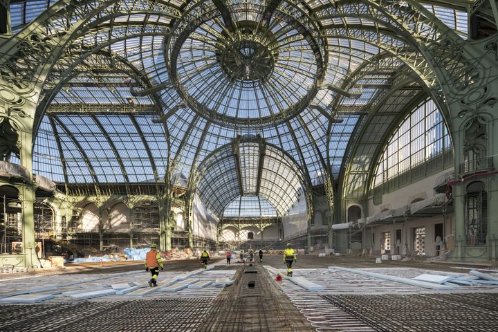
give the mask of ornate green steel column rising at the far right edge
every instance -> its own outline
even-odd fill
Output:
[[[498,166],[498,51],[492,47],[498,43],[498,37],[483,39],[479,42],[468,43],[465,46],[472,48],[476,59],[474,64],[479,69],[479,75],[473,77],[474,82],[464,86],[461,82],[454,82],[454,86],[444,86],[445,97],[448,100],[449,124],[454,148],[454,183],[452,196],[454,207],[454,243],[451,254],[454,260],[486,260],[492,256],[492,237],[498,234],[498,175],[492,172]],[[478,122],[485,129],[485,135],[468,133],[472,123]],[[486,137],[483,137],[486,136]],[[484,143],[483,143],[484,142]],[[482,144],[483,143],[483,144]],[[493,167],[482,172],[460,174],[460,165],[465,161],[465,149],[474,149],[481,146],[486,155],[479,158],[491,157]],[[486,245],[468,246],[465,237],[465,190],[473,181],[481,181],[488,194],[487,239]],[[490,252],[491,251],[491,252]]]

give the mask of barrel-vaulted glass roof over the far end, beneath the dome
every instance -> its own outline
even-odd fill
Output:
[[[217,216],[237,196],[262,196],[282,216],[306,183],[298,165],[263,142],[233,142],[214,151],[199,167],[196,190]]]

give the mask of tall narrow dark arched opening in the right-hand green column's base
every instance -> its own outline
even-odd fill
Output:
[[[473,182],[465,190],[465,243],[486,244],[488,234],[488,194],[484,183]]]

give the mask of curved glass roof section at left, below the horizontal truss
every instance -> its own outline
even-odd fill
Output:
[[[35,174],[69,183],[156,182],[165,176],[167,142],[153,116],[48,113],[39,129]]]

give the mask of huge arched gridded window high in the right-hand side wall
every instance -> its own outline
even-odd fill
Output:
[[[401,122],[378,160],[374,187],[452,149],[441,111],[425,100]]]

